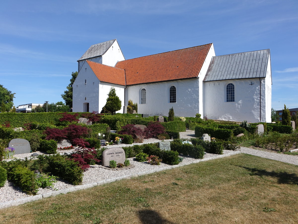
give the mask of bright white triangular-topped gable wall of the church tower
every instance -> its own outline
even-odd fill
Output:
[[[103,55],[102,64],[115,67],[116,63],[119,61],[125,60],[122,51],[118,45],[118,42],[115,41],[111,47]]]

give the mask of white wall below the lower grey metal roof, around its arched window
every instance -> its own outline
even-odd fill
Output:
[[[229,83],[235,86],[235,102],[226,102],[226,86]],[[263,110],[265,110],[265,105]],[[259,79],[204,82],[204,114],[202,116],[228,121],[260,122],[260,112],[262,116],[264,111],[260,111]]]

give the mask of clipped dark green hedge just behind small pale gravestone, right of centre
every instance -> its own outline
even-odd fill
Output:
[[[230,139],[233,136],[233,131],[230,129],[223,128],[209,128],[207,126],[196,126],[195,137],[201,137],[203,134],[209,134],[212,138],[218,139]]]

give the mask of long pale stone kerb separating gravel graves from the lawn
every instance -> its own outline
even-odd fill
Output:
[[[209,157],[209,158],[205,158],[205,159],[200,159],[200,160],[197,160],[197,161],[188,162],[188,163],[183,164],[183,165],[178,164],[178,165],[172,165],[172,166],[164,167],[164,168],[157,168],[155,170],[139,172],[139,173],[136,173],[136,174],[129,174],[129,175],[121,176],[121,177],[114,177],[114,178],[111,178],[111,179],[106,179],[106,180],[93,182],[93,183],[89,183],[89,184],[77,185],[77,186],[73,186],[73,187],[70,187],[70,188],[65,188],[65,189],[61,189],[61,190],[58,190],[58,191],[53,191],[53,192],[49,192],[49,193],[45,193],[45,194],[37,194],[37,195],[26,197],[26,198],[11,200],[11,201],[8,201],[8,202],[2,202],[2,203],[0,203],[0,208],[8,208],[10,206],[21,205],[21,204],[25,204],[27,202],[40,200],[42,198],[56,196],[58,194],[67,194],[67,193],[70,193],[70,192],[73,192],[73,191],[88,189],[88,188],[108,184],[108,183],[115,182],[115,181],[122,180],[122,179],[130,179],[132,177],[139,177],[139,176],[143,176],[143,175],[146,175],[146,174],[152,174],[152,173],[156,173],[156,172],[159,172],[159,171],[170,170],[170,169],[174,169],[174,168],[177,168],[177,167],[190,165],[192,163],[199,163],[199,162],[204,162],[204,161],[208,161],[208,160],[211,160],[211,159],[224,158],[224,157],[228,157],[228,156],[232,156],[232,155],[236,155],[236,154],[240,154],[240,153],[241,153],[240,151],[232,151],[231,153],[228,153],[228,154],[223,154],[223,155],[218,155],[218,156]]]

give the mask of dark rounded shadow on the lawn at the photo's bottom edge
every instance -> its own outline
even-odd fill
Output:
[[[158,212],[150,209],[141,210],[138,215],[143,224],[176,224],[163,219]]]

